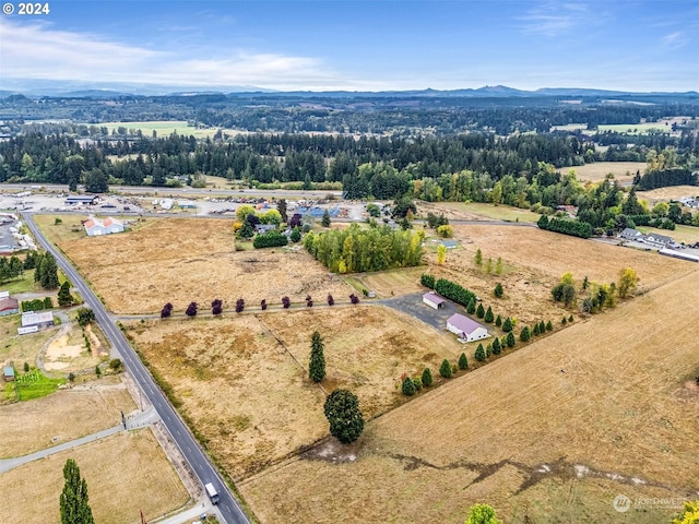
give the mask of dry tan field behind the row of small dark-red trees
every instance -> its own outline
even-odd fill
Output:
[[[51,217],[43,228],[55,231],[50,224]],[[215,298],[225,308],[238,298],[254,307],[263,298],[280,305],[285,295],[292,301],[308,294],[347,300],[352,289],[300,249],[236,252],[232,225],[227,219],[149,219],[126,234],[88,238],[76,233],[79,238],[63,237],[59,246],[117,313],[158,312],[166,302],[183,312],[192,300],[204,310]]]

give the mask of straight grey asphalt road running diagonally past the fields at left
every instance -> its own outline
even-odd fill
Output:
[[[225,522],[227,524],[248,524],[249,521],[240,509],[240,505],[238,505],[238,502],[233,497],[233,493],[228,490],[216,469],[211,465],[206,455],[197,443],[194,437],[189,432],[189,429],[177,415],[165,394],[157,386],[121,331],[111,320],[105,306],[96,297],[85,281],[78,274],[75,269],[62,255],[62,253],[58,251],[55,246],[48,242],[34,223],[33,216],[28,213],[23,213],[22,216],[37,241],[56,258],[56,262],[71,281],[73,287],[80,291],[85,303],[95,312],[95,318],[104,330],[105,335],[117,349],[125,366],[131,372],[143,393],[161,416],[161,419],[169,431],[173,440],[177,443],[191,469],[202,483],[202,488],[204,484],[213,483],[218,489],[218,492],[221,493],[221,502],[217,508]]]

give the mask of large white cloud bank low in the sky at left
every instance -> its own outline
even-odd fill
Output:
[[[257,85],[279,90],[332,90],[365,82],[339,79],[311,57],[229,51],[204,58],[57,31],[48,24],[0,20],[0,73],[5,78],[138,82],[190,86]]]

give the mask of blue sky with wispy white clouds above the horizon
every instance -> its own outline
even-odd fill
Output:
[[[0,79],[699,91],[696,0],[50,0],[31,16],[11,3]]]

